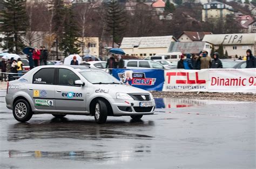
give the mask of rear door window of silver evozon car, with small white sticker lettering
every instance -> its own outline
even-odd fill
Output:
[[[33,75],[34,84],[53,85],[53,82],[54,68],[43,68]]]

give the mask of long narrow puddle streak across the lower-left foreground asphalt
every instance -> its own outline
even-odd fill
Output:
[[[146,156],[151,153],[150,146],[137,146],[123,151],[17,151],[9,150],[0,152],[0,158],[51,158],[64,160],[102,160],[107,163],[126,161],[131,157]],[[112,160],[112,161],[111,161]]]

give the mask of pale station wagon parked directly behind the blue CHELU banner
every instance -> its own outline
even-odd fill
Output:
[[[124,68],[128,69],[164,69],[165,67],[153,60],[124,60]]]

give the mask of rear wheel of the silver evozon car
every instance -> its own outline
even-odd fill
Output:
[[[19,122],[27,122],[33,115],[29,103],[23,99],[19,99],[14,103],[12,114]]]

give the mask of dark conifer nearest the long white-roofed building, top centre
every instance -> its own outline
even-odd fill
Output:
[[[112,47],[114,43],[119,43],[126,30],[125,11],[118,1],[111,0],[108,3],[105,17],[105,31],[113,36]]]

